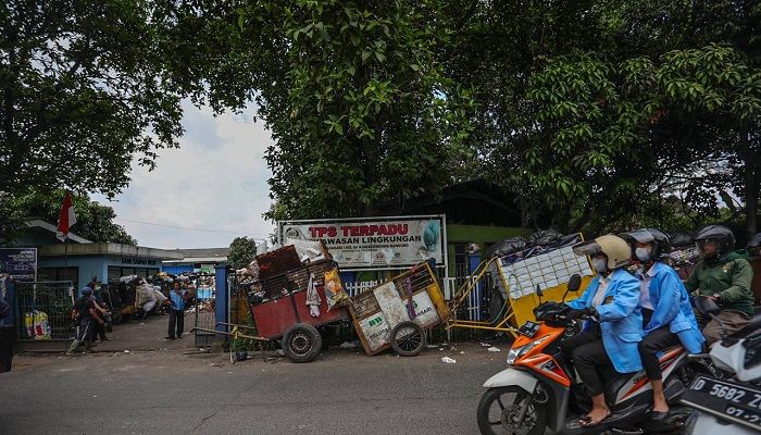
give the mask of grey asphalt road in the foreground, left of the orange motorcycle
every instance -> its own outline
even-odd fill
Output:
[[[0,374],[0,434],[477,435],[481,385],[507,347],[454,346],[414,358],[335,349],[307,364],[173,350],[21,356]]]

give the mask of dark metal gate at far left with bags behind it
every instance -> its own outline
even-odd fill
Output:
[[[15,284],[20,340],[67,340],[74,291],[71,281]]]

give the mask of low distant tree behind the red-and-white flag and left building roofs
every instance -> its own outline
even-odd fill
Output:
[[[10,208],[14,211],[14,217],[21,219],[22,223],[28,217],[38,216],[55,224],[65,195],[63,189],[32,190],[14,198]],[[111,207],[91,201],[86,195],[72,195],[72,203],[77,220],[72,232],[91,241],[137,245],[137,240],[127,234],[124,227],[113,223],[116,213]]]

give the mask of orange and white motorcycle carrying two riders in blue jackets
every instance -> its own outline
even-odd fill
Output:
[[[567,291],[577,291],[581,276],[574,275]],[[541,300],[541,289],[537,288]],[[508,369],[491,376],[478,403],[477,421],[484,435],[540,435],[547,427],[557,434],[581,435],[643,433],[652,406],[652,387],[645,371],[615,374],[606,380],[606,400],[611,415],[595,426],[583,426],[578,419],[591,409],[591,399],[576,382],[573,368],[564,366],[560,341],[581,332],[581,323],[567,319],[571,308],[562,302],[542,302],[534,309],[537,322],[526,322],[508,352]],[[687,358],[682,346],[665,349],[660,358],[663,388],[670,403],[677,403],[696,373],[704,365]],[[686,415],[672,413],[668,422],[652,422],[652,431],[679,426]],[[665,426],[664,426],[665,424]]]

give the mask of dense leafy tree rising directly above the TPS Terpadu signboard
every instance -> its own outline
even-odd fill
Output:
[[[372,213],[461,176],[471,101],[437,60],[447,33],[435,2],[183,3],[164,18],[173,40],[190,40],[173,70],[202,77],[186,86],[212,105],[255,98],[272,130],[269,217]],[[204,61],[219,53],[229,54]]]

